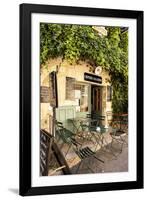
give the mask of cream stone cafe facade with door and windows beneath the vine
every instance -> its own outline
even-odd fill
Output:
[[[101,82],[90,80],[97,75],[91,71],[93,67],[88,62],[69,64],[62,62],[61,58],[50,59],[40,69],[40,85],[50,90],[49,74],[57,74],[58,108],[56,108],[56,119],[69,127],[68,119],[86,117],[88,113],[97,112],[106,116],[107,111],[112,110],[111,85],[109,73],[102,70],[99,77]],[[88,80],[85,78],[88,74]],[[86,75],[87,75],[86,74]],[[49,117],[53,115],[50,103],[41,102],[40,120],[41,128],[50,132]],[[107,126],[107,118],[104,122]]]

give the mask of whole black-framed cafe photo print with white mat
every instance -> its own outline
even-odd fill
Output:
[[[20,5],[20,195],[143,188],[143,11]]]

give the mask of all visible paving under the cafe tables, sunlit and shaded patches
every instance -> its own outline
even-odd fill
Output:
[[[107,138],[106,138],[107,139]],[[108,138],[109,141],[109,138]],[[127,141],[126,141],[127,142]],[[108,144],[108,143],[107,143]],[[111,142],[103,148],[97,148],[96,157],[100,158],[104,161],[101,163],[100,161],[96,160],[94,157],[87,158],[83,161],[78,171],[78,174],[88,174],[88,173],[110,173],[110,172],[127,172],[128,171],[128,147],[125,144],[123,147],[122,152],[120,153],[120,145],[116,142],[113,143],[113,153],[117,155],[115,157],[112,154],[112,151],[109,149],[109,145]],[[88,142],[89,147],[93,147],[93,143]],[[65,145],[64,150],[67,151],[67,146]],[[65,151],[65,152],[66,152]],[[81,162],[80,158],[71,150],[69,151],[68,156],[66,157],[68,165],[71,169],[72,174],[75,174],[77,166]],[[51,163],[50,163],[51,164]],[[55,165],[55,160],[53,160],[53,166]],[[92,171],[88,169],[88,166]],[[60,167],[57,163],[56,168]],[[49,170],[51,173],[52,170]],[[54,175],[61,175],[63,174],[62,171],[58,171]]]

